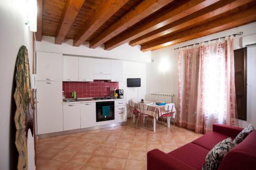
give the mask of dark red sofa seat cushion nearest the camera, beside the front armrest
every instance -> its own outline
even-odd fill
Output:
[[[195,169],[201,170],[208,152],[209,150],[202,148],[197,144],[187,143],[168,153],[168,155],[179,159],[181,162],[184,162]]]

